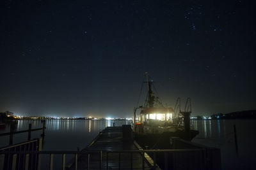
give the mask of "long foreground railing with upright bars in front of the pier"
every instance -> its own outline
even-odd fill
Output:
[[[86,169],[90,169],[90,155],[92,155],[93,153],[97,153],[99,155],[99,158],[97,160],[97,164],[99,164],[99,169],[109,169],[109,155],[111,154],[118,154],[118,159],[116,159],[116,161],[118,161],[118,167],[119,169],[121,169],[121,155],[124,153],[129,153],[131,154],[131,160],[130,160],[130,167],[132,169],[133,166],[133,161],[132,161],[132,157],[135,153],[140,153],[141,156],[143,157],[142,161],[141,161],[141,169],[144,169],[145,167],[145,153],[147,153],[148,155],[150,155],[150,157],[153,158],[152,162],[148,162],[150,164],[150,166],[153,169],[156,169],[156,164],[157,164],[157,157],[159,157],[159,155],[162,155],[163,159],[161,158],[161,160],[163,160],[163,169],[170,169],[173,168],[175,169],[175,159],[179,159],[179,157],[177,157],[176,155],[179,155],[179,153],[181,153],[182,155],[187,154],[187,155],[191,155],[193,153],[197,153],[198,155],[200,155],[200,157],[198,160],[198,163],[201,163],[200,165],[198,165],[198,167],[202,167],[202,168],[198,168],[198,169],[205,169],[205,164],[207,161],[207,158],[205,157],[205,149],[204,148],[200,148],[200,149],[180,149],[180,150],[83,150],[83,151],[4,151],[0,153],[0,165],[5,157],[10,157],[12,156],[12,167],[10,167],[10,169],[15,169],[16,168],[16,164],[15,162],[17,161],[17,155],[25,155],[25,159],[24,159],[24,169],[28,170],[31,169],[28,165],[29,165],[29,156],[30,155],[38,155],[39,158],[41,155],[49,155],[49,169],[53,169],[54,166],[54,156],[55,155],[62,155],[62,169],[68,169],[68,167],[66,166],[66,155],[74,155],[74,164],[72,164],[72,167],[74,167],[74,169],[77,169],[77,163],[80,161],[78,159],[78,155],[87,155],[87,168]],[[104,162],[104,164],[106,164],[106,167],[102,167],[103,161],[102,161],[102,155],[106,154],[106,162]],[[189,157],[189,159],[193,159],[195,160],[195,157]],[[93,160],[95,161],[95,159]],[[184,162],[184,164],[191,162],[191,160],[182,160]],[[38,160],[38,164],[36,165],[36,169],[40,169],[40,160]],[[70,166],[71,167],[71,166]],[[23,169],[23,168],[22,168]],[[98,169],[98,168],[97,168]],[[176,168],[177,169],[177,168]],[[0,170],[3,170],[3,166],[0,166]]]

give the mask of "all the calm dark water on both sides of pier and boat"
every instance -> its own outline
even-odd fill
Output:
[[[127,120],[47,120],[43,150],[77,150],[86,147],[100,131],[107,126],[131,124]],[[17,131],[42,127],[38,120],[20,120]],[[236,124],[238,153],[234,143],[234,129]],[[200,131],[193,139],[203,145],[221,149],[222,169],[250,169],[255,162],[256,120],[193,120],[192,128]],[[10,131],[10,127],[0,130]],[[42,131],[32,132],[31,138],[39,138]],[[13,142],[26,141],[28,134],[15,134]],[[0,147],[8,145],[8,137],[0,137]],[[252,168],[251,168],[252,169]]]

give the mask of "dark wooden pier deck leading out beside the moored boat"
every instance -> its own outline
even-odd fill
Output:
[[[123,140],[122,127],[107,127],[84,150],[88,152],[99,150],[109,152],[84,153],[79,155],[77,169],[152,169],[152,166],[148,162],[147,154],[143,156],[141,153],[111,152],[116,150],[121,152],[139,150],[136,143],[132,140]],[[75,165],[73,164],[70,169],[75,169]]]

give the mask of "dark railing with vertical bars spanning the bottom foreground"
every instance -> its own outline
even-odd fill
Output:
[[[202,160],[200,160],[200,166],[201,167],[205,167],[206,163],[205,161],[207,161],[207,155],[205,154],[207,152],[209,148],[198,148],[198,149],[170,149],[170,150],[81,150],[81,151],[70,151],[70,150],[45,150],[45,151],[13,151],[13,152],[7,152],[7,151],[4,151],[4,152],[0,152],[0,157],[2,158],[2,160],[4,159],[4,157],[7,157],[10,158],[10,157],[13,157],[13,160],[14,160],[14,163],[12,161],[12,168],[16,167],[16,161],[17,161],[17,157],[21,154],[21,155],[26,155],[24,159],[24,162],[23,164],[25,165],[29,165],[29,164],[32,164],[31,163],[31,160],[29,160],[29,157],[38,157],[38,164],[36,164],[36,167],[37,169],[40,169],[40,166],[41,166],[41,156],[42,155],[49,155],[49,158],[50,158],[50,161],[49,161],[49,169],[53,170],[53,164],[54,164],[54,156],[55,155],[61,155],[62,156],[62,169],[67,169],[67,168],[70,168],[72,166],[74,166],[74,169],[77,169],[77,162],[78,162],[78,155],[79,154],[85,154],[87,155],[87,160],[83,160],[84,162],[87,162],[87,169],[90,169],[90,166],[91,166],[91,162],[90,162],[90,155],[93,153],[96,153],[96,154],[100,154],[99,156],[99,160],[98,163],[99,163],[99,169],[102,169],[102,153],[106,154],[106,164],[105,166],[109,167],[109,155],[111,155],[111,153],[114,153],[114,154],[118,154],[118,159],[116,159],[116,161],[119,161],[119,169],[121,168],[120,166],[120,159],[121,159],[121,155],[122,153],[131,153],[131,169],[132,169],[132,162],[133,162],[133,159],[132,159],[132,155],[134,155],[135,153],[140,153],[141,156],[143,156],[144,158],[142,159],[141,161],[141,166],[142,166],[142,169],[144,169],[144,163],[146,162],[148,164],[148,166],[152,169],[156,169],[158,166],[157,166],[157,156],[159,156],[157,153],[164,153],[162,156],[164,156],[164,169],[169,169],[168,166],[173,166],[173,165],[169,165],[168,162],[168,157],[170,155],[168,155],[168,153],[171,153],[173,154],[173,157],[176,157],[177,155],[179,156],[179,154],[175,154],[175,153],[182,153],[182,152],[185,152],[185,153],[191,153],[191,152],[197,152],[197,153],[200,153],[203,157],[202,157]],[[218,148],[215,148],[215,149],[218,149]],[[110,154],[109,154],[110,153]],[[154,157],[154,159],[152,159],[151,162],[148,162],[148,159],[145,158],[145,155],[147,155],[148,153],[151,153],[150,155]],[[66,164],[66,155],[74,155],[74,162],[72,164]],[[148,157],[148,156],[146,156]],[[200,157],[199,157],[200,158]],[[146,159],[146,160],[145,160]],[[173,158],[172,158],[173,159]],[[174,158],[175,159],[175,158]],[[193,157],[192,157],[193,159]],[[9,159],[8,159],[9,160]],[[105,160],[104,160],[105,161]],[[9,163],[8,163],[9,164]],[[126,165],[125,165],[126,166]],[[219,167],[219,166],[216,166],[216,167]],[[1,170],[3,170],[3,167],[1,168]],[[15,168],[14,168],[15,169]]]

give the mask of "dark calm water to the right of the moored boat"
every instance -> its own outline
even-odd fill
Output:
[[[193,142],[221,149],[222,169],[252,169],[256,155],[256,136],[253,135],[256,120],[191,120],[191,129],[199,131]]]

